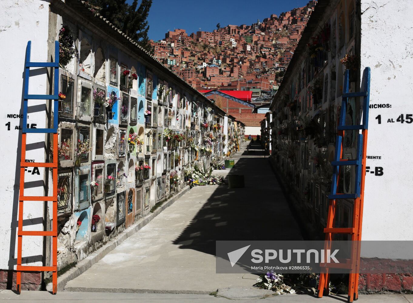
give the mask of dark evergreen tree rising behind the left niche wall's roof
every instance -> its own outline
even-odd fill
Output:
[[[152,0],[133,0],[132,4],[126,0],[88,0],[90,5],[96,6],[97,11],[111,22],[116,28],[129,36],[145,50],[153,53],[149,43],[149,24],[147,17]]]

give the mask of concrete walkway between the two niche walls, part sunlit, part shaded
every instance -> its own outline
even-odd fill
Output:
[[[268,159],[245,149],[235,167],[245,188],[194,187],[74,280],[67,291],[209,294],[251,287],[251,274],[216,274],[216,240],[299,240],[301,232]]]

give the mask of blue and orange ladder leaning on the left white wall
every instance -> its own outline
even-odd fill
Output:
[[[55,62],[30,62],[31,41],[28,41],[26,48],[25,62],[25,83],[24,83],[24,103],[23,103],[23,131],[21,134],[21,159],[20,159],[20,193],[19,193],[19,218],[17,230],[17,293],[21,293],[21,272],[41,272],[51,271],[53,279],[53,294],[57,292],[57,125],[58,125],[58,99],[59,99],[59,41],[55,41]],[[53,95],[29,95],[28,82],[31,67],[52,67],[54,68],[54,94]],[[28,128],[27,107],[28,100],[54,100],[53,128]],[[26,135],[28,133],[52,133],[53,134],[53,162],[26,162]],[[53,170],[53,195],[52,196],[25,196],[24,195],[24,172],[28,167],[52,168]],[[53,226],[51,231],[25,231],[23,230],[23,204],[24,201],[51,201],[53,203]],[[24,266],[21,265],[21,246],[23,236],[50,236],[52,237],[52,266]]]

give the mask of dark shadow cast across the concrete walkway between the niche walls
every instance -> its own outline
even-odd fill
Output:
[[[244,175],[245,188],[218,186],[173,244],[215,255],[218,240],[301,240],[299,225],[262,155],[241,149],[229,174]]]

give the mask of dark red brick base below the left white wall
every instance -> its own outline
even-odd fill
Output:
[[[21,290],[39,290],[41,284],[40,272],[21,273]],[[16,289],[16,271],[0,270],[0,289]]]

